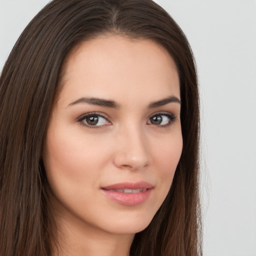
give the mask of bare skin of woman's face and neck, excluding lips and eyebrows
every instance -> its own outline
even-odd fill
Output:
[[[182,150],[180,103],[148,107],[180,99],[175,64],[152,40],[100,36],[69,52],[60,86],[43,147],[60,255],[127,256],[166,197]],[[81,97],[118,108],[77,102]],[[97,125],[81,120],[90,112],[103,116]],[[149,198],[129,206],[102,193],[124,181],[150,182]]]

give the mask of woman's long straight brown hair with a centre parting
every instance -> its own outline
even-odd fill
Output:
[[[100,34],[163,45],[179,73],[182,154],[169,193],[136,233],[132,256],[202,254],[195,63],[175,21],[151,0],[53,0],[27,25],[0,77],[0,255],[50,255],[54,221],[41,149],[67,52]]]

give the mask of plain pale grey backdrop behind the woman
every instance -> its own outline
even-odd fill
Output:
[[[0,70],[48,0],[0,0]],[[201,97],[204,255],[256,256],[256,1],[156,0],[186,34]]]

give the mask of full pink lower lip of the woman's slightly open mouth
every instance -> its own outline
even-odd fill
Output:
[[[147,188],[145,191],[138,192],[138,193],[124,193],[124,192],[117,192],[117,191],[110,191],[106,189],[101,189],[102,192],[113,201],[122,204],[122,205],[138,205],[145,200],[151,194],[152,188]]]

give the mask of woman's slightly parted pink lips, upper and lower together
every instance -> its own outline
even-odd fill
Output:
[[[153,189],[153,185],[145,182],[122,182],[101,188],[101,191],[116,203],[122,205],[138,205],[146,201]]]

